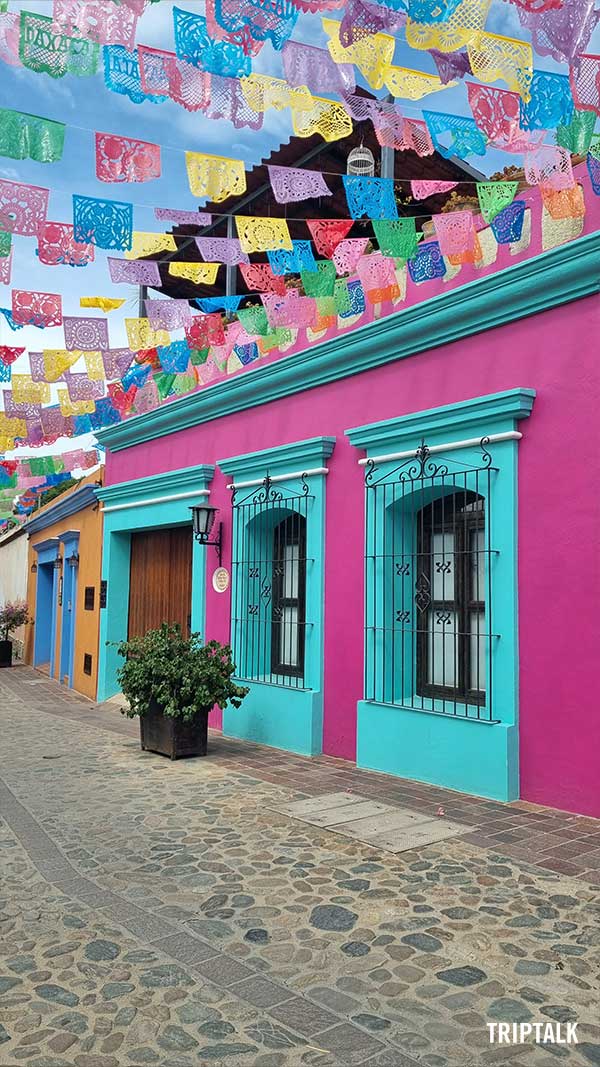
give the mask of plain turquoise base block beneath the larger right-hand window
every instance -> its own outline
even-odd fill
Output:
[[[492,800],[517,800],[519,730],[361,700],[357,765]]]

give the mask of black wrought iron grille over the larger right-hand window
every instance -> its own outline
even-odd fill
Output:
[[[495,722],[491,484],[423,441],[390,469],[365,464],[365,700]]]

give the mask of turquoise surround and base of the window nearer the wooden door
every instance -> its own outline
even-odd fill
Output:
[[[260,452],[235,456],[220,460],[219,466],[236,481],[253,481],[267,475],[295,474],[297,472],[325,467],[327,459],[335,446],[335,437],[312,437],[293,442]],[[322,751],[322,688],[323,688],[323,593],[325,593],[325,475],[306,477],[309,494],[304,495],[300,478],[278,481],[275,488],[283,489],[284,496],[277,508],[266,513],[255,514],[252,509],[244,515],[238,512],[234,519],[232,545],[232,616],[238,616],[235,605],[247,604],[251,595],[251,578],[243,573],[237,559],[270,558],[270,537],[277,523],[294,511],[306,520],[306,630],[304,648],[304,688],[294,685],[277,685],[256,678],[264,663],[270,662],[268,648],[263,649],[264,663],[252,660],[253,644],[247,642],[232,622],[232,646],[238,665],[241,684],[250,689],[239,710],[227,710],[223,716],[223,731],[232,737],[259,742],[274,748],[283,748],[303,755],[315,755]],[[259,490],[259,484],[254,487]],[[286,490],[290,490],[289,494]],[[251,496],[253,488],[239,489],[237,499]],[[295,495],[296,494],[296,495]],[[243,545],[243,552],[242,552]],[[259,563],[259,568],[263,564]],[[247,572],[248,572],[247,568]],[[265,568],[258,580],[272,580]],[[269,631],[267,631],[269,633]],[[254,676],[252,676],[254,675]]]

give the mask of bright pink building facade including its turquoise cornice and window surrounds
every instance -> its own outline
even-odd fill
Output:
[[[105,642],[127,634],[131,535],[209,501],[228,585],[194,544],[191,625],[231,641],[250,687],[227,734],[600,815],[600,234],[585,192],[575,240],[543,252],[534,237],[522,259],[501,246],[365,325],[99,434],[98,699],[116,691]]]

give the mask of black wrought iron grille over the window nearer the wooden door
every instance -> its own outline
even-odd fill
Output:
[[[306,688],[306,519],[314,497],[267,474],[232,492],[232,647],[237,675]]]

